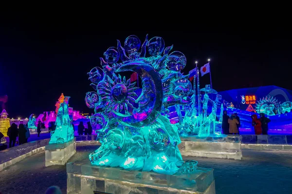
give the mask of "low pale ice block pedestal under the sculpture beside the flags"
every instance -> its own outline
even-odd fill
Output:
[[[182,156],[241,160],[241,136],[181,137],[178,146]]]

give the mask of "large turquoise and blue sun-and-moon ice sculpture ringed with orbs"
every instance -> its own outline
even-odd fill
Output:
[[[185,56],[179,51],[168,54],[172,46],[164,49],[161,37],[148,41],[146,36],[141,46],[139,38],[131,35],[124,47],[118,41],[117,48],[110,47],[104,53],[105,60],[100,58],[102,68],[94,67],[88,73],[96,92],[88,92],[85,102],[94,109],[91,126],[101,143],[89,159],[95,165],[175,174],[182,167],[178,163],[182,161],[178,149],[181,140],[178,128],[164,113],[168,106],[187,103],[188,91],[181,86],[189,81],[180,73]],[[146,57],[147,48],[150,57]],[[117,63],[119,59],[122,63]],[[122,71],[140,76],[139,97],[136,82],[122,78]]]

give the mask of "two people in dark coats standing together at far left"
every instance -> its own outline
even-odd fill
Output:
[[[9,137],[9,147],[15,146],[16,138],[18,137],[19,145],[27,143],[27,139],[30,137],[30,132],[27,124],[12,123],[11,127],[7,130],[7,136]]]

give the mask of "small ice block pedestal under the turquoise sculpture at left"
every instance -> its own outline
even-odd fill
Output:
[[[49,144],[46,149],[46,166],[65,165],[76,153],[76,139],[64,144]]]

